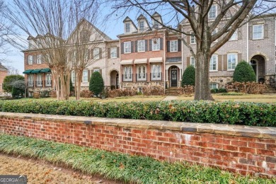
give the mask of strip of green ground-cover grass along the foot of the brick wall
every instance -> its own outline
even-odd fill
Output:
[[[245,177],[185,162],[168,163],[145,156],[8,134],[0,134],[0,151],[64,164],[88,174],[97,173],[127,183],[276,183],[276,178]]]

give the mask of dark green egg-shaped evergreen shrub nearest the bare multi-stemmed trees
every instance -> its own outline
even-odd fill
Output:
[[[103,84],[102,75],[100,74],[100,72],[95,71],[92,74],[89,82],[89,90],[92,91],[96,96],[98,96],[98,94],[100,94],[104,88],[105,86]]]

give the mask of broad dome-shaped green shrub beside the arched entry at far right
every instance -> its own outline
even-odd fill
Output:
[[[245,61],[238,63],[234,71],[233,81],[234,82],[256,81],[256,75],[251,65]]]

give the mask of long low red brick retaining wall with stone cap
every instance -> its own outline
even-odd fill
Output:
[[[0,131],[167,161],[276,176],[276,127],[0,113]]]

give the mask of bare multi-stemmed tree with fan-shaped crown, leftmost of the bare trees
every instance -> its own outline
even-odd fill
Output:
[[[69,58],[66,40],[81,18],[96,16],[96,10],[91,1],[79,0],[13,0],[8,4],[6,16],[29,36],[29,49],[41,52],[42,61],[50,67],[58,100],[69,98],[71,70],[79,69]]]

